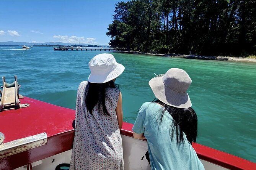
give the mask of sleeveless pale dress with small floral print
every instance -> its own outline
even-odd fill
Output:
[[[124,170],[122,138],[116,117],[120,91],[106,88],[105,104],[110,116],[97,106],[93,115],[85,105],[87,81],[80,83],[77,91],[75,138],[70,170]]]

